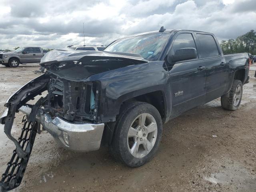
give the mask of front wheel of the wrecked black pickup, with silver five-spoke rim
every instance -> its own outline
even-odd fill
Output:
[[[117,118],[110,152],[127,166],[142,166],[156,153],[162,128],[162,118],[154,106],[144,102],[125,104]]]

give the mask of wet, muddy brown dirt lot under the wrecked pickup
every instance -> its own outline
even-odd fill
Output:
[[[10,94],[39,76],[38,64],[0,66],[0,113]],[[107,148],[84,154],[67,151],[47,132],[38,134],[19,192],[184,192],[256,191],[256,79],[244,86],[240,109],[223,110],[220,99],[164,125],[157,155],[148,164],[128,168],[115,162]],[[20,135],[22,115],[14,123]],[[214,137],[216,136],[216,137]],[[14,144],[0,127],[0,172]]]

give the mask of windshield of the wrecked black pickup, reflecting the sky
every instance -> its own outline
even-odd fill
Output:
[[[170,33],[158,33],[123,38],[110,44],[104,51],[140,54],[149,61],[158,60]]]

